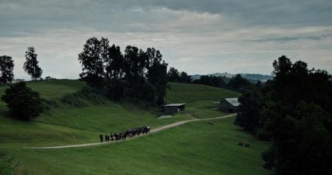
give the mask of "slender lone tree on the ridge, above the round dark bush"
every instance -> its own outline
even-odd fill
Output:
[[[28,47],[26,51],[26,62],[24,62],[24,71],[31,76],[32,80],[37,80],[42,76],[43,70],[38,66],[37,53],[35,53],[35,48],[33,46]]]

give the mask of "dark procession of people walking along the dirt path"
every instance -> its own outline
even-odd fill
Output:
[[[128,129],[123,133],[106,133],[105,136],[100,133],[99,138],[100,142],[109,142],[109,141],[117,141],[117,140],[125,140],[127,137],[132,138],[134,136],[140,136],[140,134],[149,133],[150,127],[137,127],[133,129]]]

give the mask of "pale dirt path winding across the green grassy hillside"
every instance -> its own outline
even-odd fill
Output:
[[[167,129],[167,128],[176,127],[178,125],[183,125],[186,122],[203,121],[203,120],[216,120],[216,119],[221,119],[221,118],[229,118],[229,117],[232,117],[232,116],[235,116],[235,115],[237,115],[237,114],[232,113],[232,114],[217,117],[217,118],[203,118],[203,119],[194,118],[192,120],[184,120],[184,121],[180,121],[180,122],[174,122],[172,124],[165,125],[163,127],[157,127],[157,128],[151,129],[149,133],[154,133],[154,132],[162,131],[162,130]],[[141,134],[140,136],[145,136],[147,134],[148,133]],[[136,136],[136,137],[133,137],[133,138],[138,138],[140,136]],[[133,138],[127,138],[126,140],[130,140],[130,139],[133,139]],[[65,146],[55,146],[55,147],[24,147],[24,148],[29,148],[29,149],[59,149],[59,148],[68,148],[68,147],[89,147],[89,146],[93,146],[93,145],[111,144],[111,143],[114,143],[114,142],[124,142],[124,141],[125,140],[118,140],[118,141],[113,141],[113,142],[93,142],[93,143],[86,143],[86,144],[80,144],[80,145],[65,145]]]

